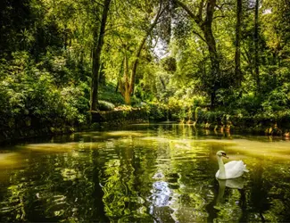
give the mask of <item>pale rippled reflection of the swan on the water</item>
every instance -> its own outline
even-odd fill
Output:
[[[231,189],[238,189],[242,190],[244,188],[244,178],[232,178],[232,179],[218,179],[219,181],[219,195],[217,198],[217,204],[220,202],[224,202],[224,194],[226,187],[229,187]]]

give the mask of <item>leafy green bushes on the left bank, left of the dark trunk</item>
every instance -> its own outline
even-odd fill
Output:
[[[25,117],[48,125],[61,124],[55,120],[85,122],[87,84],[79,82],[59,88],[54,74],[41,62],[39,64],[31,60],[27,52],[13,54],[10,62],[1,62],[1,126],[12,128],[12,122]]]

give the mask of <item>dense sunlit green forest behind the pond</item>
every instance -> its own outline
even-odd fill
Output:
[[[205,109],[290,120],[287,0],[4,0],[0,11],[1,130],[143,104],[155,120]]]

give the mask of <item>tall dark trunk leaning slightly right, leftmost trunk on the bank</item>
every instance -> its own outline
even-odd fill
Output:
[[[102,53],[102,47],[104,45],[104,29],[107,22],[108,12],[110,8],[111,0],[104,0],[104,10],[101,21],[100,33],[98,36],[97,45],[93,50],[93,76],[91,87],[91,111],[97,110],[98,103],[98,87],[99,87],[99,70],[100,70],[100,58]],[[95,34],[95,32],[94,32]],[[95,35],[94,35],[95,37]]]

